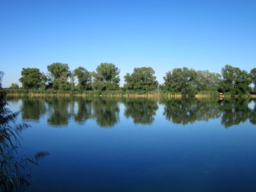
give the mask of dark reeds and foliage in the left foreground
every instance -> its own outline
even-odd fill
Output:
[[[30,165],[38,164],[48,153],[38,152],[31,157],[15,157],[20,146],[20,133],[28,125],[15,124],[19,113],[12,113],[8,109],[8,102],[4,99],[5,93],[1,88],[2,77],[3,72],[0,72],[0,188],[1,191],[21,191],[31,183]]]

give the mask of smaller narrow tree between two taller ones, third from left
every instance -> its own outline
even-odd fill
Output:
[[[92,89],[92,74],[84,67],[78,67],[74,70],[75,76],[78,79],[78,90],[91,90]]]

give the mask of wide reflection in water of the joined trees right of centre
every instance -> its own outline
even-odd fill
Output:
[[[163,99],[164,113],[167,120],[174,124],[194,123],[195,121],[208,121],[220,117],[220,108],[216,100],[209,99]]]

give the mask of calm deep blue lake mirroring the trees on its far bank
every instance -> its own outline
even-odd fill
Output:
[[[255,99],[10,97],[27,191],[256,191]]]

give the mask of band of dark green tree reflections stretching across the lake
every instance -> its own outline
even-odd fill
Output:
[[[47,123],[68,125],[70,119],[78,124],[95,120],[100,127],[113,127],[120,122],[120,104],[124,105],[125,118],[134,124],[152,124],[159,104],[166,120],[174,124],[193,124],[196,121],[220,119],[224,127],[242,122],[256,124],[255,99],[113,99],[82,97],[21,98],[23,120],[40,120],[46,114]]]

